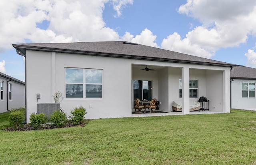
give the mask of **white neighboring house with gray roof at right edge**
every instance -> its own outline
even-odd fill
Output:
[[[238,66],[230,71],[230,107],[256,110],[256,69]]]

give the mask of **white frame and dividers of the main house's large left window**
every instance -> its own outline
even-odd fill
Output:
[[[83,70],[83,74],[82,74],[82,82],[66,82],[67,78],[66,78],[66,69],[74,69],[74,70]],[[65,98],[66,99],[102,99],[103,98],[103,70],[102,69],[91,69],[91,68],[68,68],[66,67],[65,69]],[[86,70],[100,70],[101,71],[101,83],[92,83],[92,82],[86,82]],[[74,84],[74,85],[82,85],[82,97],[67,97],[67,84]],[[100,85],[101,86],[101,90],[99,90],[101,92],[101,97],[86,97],[86,85],[87,87],[89,85]],[[97,90],[97,89],[96,89]]]

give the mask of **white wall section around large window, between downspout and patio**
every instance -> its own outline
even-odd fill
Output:
[[[65,98],[65,67],[102,69],[102,98]],[[82,105],[86,108],[88,119],[130,117],[131,67],[131,63],[122,58],[56,53],[56,91],[64,96],[60,107],[69,113],[71,109]]]

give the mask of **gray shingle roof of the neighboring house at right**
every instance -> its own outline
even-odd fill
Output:
[[[256,68],[238,66],[230,71],[230,78],[239,79],[256,79]]]

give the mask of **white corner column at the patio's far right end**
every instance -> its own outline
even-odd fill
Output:
[[[230,113],[230,70],[223,72],[223,112]]]

